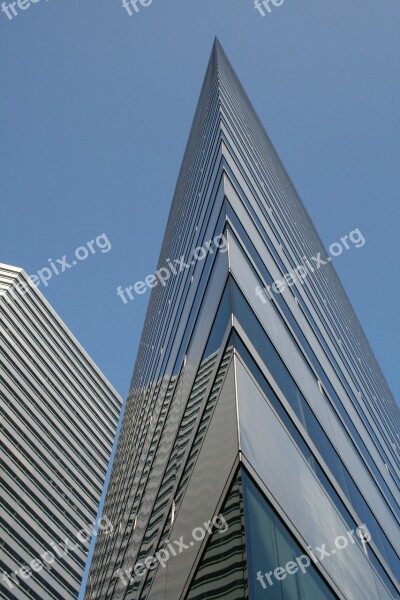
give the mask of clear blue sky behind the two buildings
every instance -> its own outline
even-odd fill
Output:
[[[125,397],[214,36],[323,241],[395,396],[400,374],[398,0],[40,0],[0,13],[0,261],[35,273],[105,233],[40,290]]]

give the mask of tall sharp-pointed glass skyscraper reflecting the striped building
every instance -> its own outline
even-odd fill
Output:
[[[86,597],[396,598],[399,409],[218,41],[150,281]]]

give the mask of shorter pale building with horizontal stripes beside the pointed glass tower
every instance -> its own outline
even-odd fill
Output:
[[[0,312],[0,597],[76,599],[122,401],[22,269]]]

